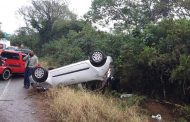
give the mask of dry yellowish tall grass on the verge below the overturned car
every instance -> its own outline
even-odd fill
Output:
[[[51,115],[58,122],[146,122],[137,106],[121,109],[120,100],[75,89],[48,93]]]

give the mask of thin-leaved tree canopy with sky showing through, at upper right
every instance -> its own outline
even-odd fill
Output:
[[[190,9],[188,0],[94,0],[87,20],[131,32],[163,18],[184,17]]]

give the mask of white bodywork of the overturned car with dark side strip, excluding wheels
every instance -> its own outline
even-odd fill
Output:
[[[87,81],[100,80],[107,78],[112,58],[107,56],[103,66],[96,67],[89,60],[70,64],[53,70],[49,70],[46,82],[52,86],[72,85]]]

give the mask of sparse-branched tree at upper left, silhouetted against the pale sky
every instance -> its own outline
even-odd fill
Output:
[[[65,2],[59,0],[32,0],[31,6],[19,9],[27,25],[38,31],[40,45],[49,42],[56,21],[75,19]]]

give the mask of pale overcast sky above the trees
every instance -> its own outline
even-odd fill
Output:
[[[80,17],[89,10],[91,0],[68,0],[68,3],[70,10]],[[1,30],[13,34],[19,27],[24,26],[24,20],[18,14],[18,9],[30,4],[31,0],[0,0]]]

